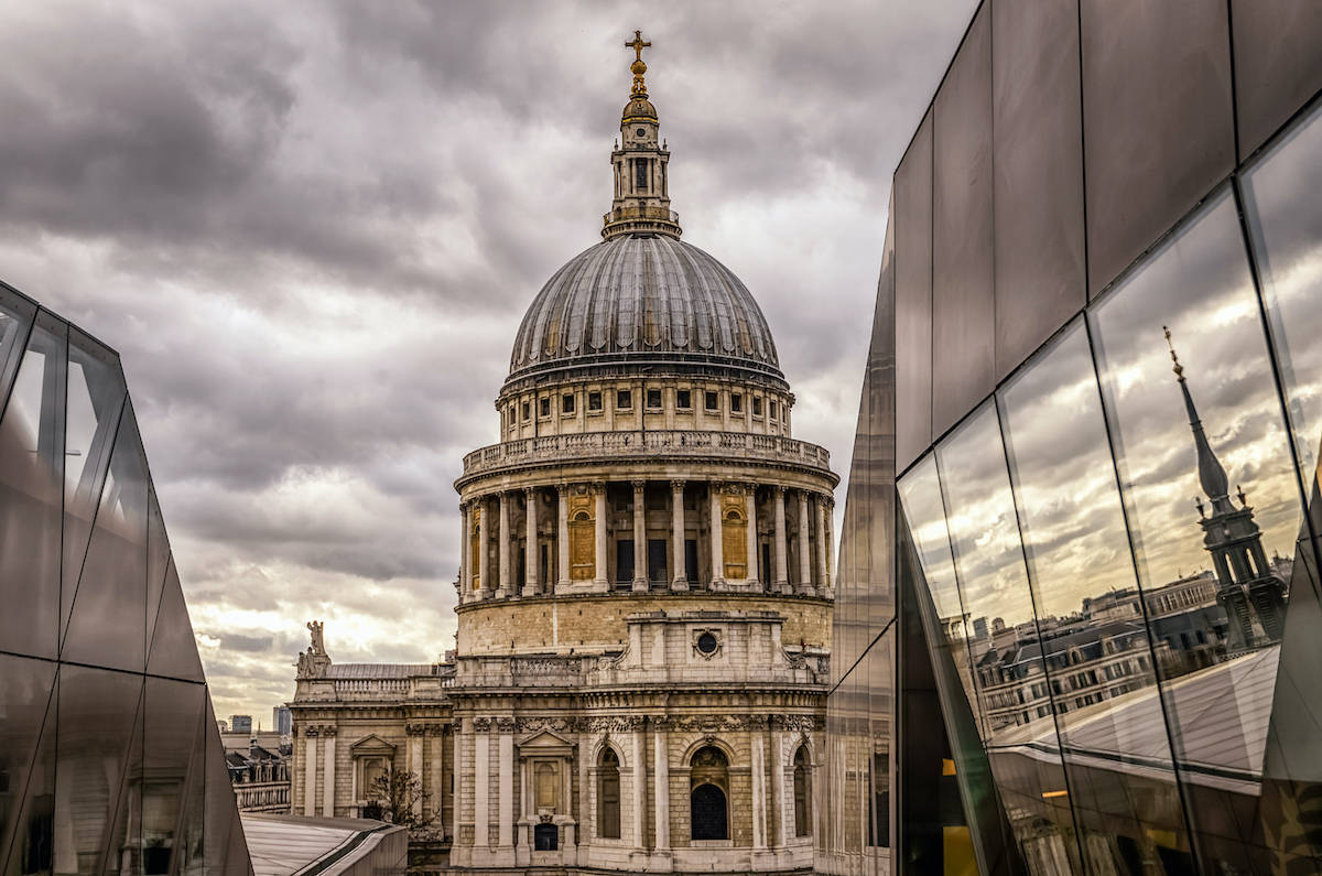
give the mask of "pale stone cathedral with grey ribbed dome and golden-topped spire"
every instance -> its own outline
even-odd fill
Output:
[[[403,769],[461,871],[804,872],[837,479],[752,295],[681,241],[631,45],[604,240],[533,299],[456,482],[456,656],[338,664],[313,625],[293,805]]]

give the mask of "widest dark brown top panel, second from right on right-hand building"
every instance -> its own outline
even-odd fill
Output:
[[[1235,167],[1224,0],[1081,0],[1088,287]]]

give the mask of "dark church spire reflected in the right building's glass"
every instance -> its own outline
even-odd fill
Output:
[[[1263,533],[1253,523],[1253,509],[1248,505],[1244,490],[1236,488],[1240,507],[1236,508],[1229,499],[1229,479],[1203,431],[1203,422],[1185,380],[1185,368],[1170,340],[1170,328],[1162,326],[1162,329],[1170,347],[1170,359],[1175,363],[1173,371],[1179,381],[1179,390],[1185,396],[1188,427],[1194,431],[1198,482],[1212,500],[1210,515],[1204,515],[1202,498],[1196,498],[1195,504],[1199,525],[1203,528],[1203,547],[1212,554],[1212,564],[1216,566],[1216,601],[1225,609],[1229,621],[1229,651],[1264,644],[1259,642],[1260,636],[1253,629],[1253,614],[1257,615],[1265,638],[1278,642],[1285,623],[1285,582],[1266,561]]]

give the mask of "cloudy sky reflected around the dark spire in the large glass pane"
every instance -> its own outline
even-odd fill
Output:
[[[1229,197],[1215,198],[1093,315],[1121,471],[1130,484],[1130,523],[1141,535],[1144,584],[1161,586],[1208,566],[1194,509],[1202,495],[1196,453],[1162,326],[1170,326],[1232,492],[1241,484],[1248,494],[1268,554],[1292,554],[1298,488]]]

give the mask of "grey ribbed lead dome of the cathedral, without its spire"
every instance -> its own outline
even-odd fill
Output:
[[[758,302],[734,273],[669,234],[625,234],[568,261],[533,299],[510,380],[596,365],[752,371],[784,385]]]

